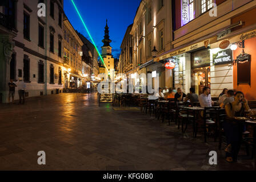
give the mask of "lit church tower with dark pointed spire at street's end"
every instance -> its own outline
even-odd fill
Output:
[[[111,40],[109,39],[109,26],[107,26],[107,20],[106,20],[106,27],[105,27],[105,36],[102,40],[103,46],[101,56],[103,58],[103,61],[106,65],[106,74],[109,74],[109,72],[114,69],[114,57],[112,55],[112,47],[110,46]]]

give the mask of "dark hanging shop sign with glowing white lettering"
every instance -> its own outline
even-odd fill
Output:
[[[226,49],[219,51],[213,55],[214,64],[226,64],[232,62],[232,51],[231,49]]]

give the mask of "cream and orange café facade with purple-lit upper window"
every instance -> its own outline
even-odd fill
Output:
[[[194,87],[198,94],[204,86],[210,86],[213,97],[218,97],[223,88],[242,90],[249,100],[255,99],[255,84],[250,79],[255,63],[253,59],[245,64],[239,61],[254,56],[251,48],[256,25],[247,17],[255,14],[255,1],[177,0],[172,6],[175,23],[171,49],[155,61],[175,63],[173,85],[185,92]],[[239,67],[245,67],[248,74],[243,75]]]

